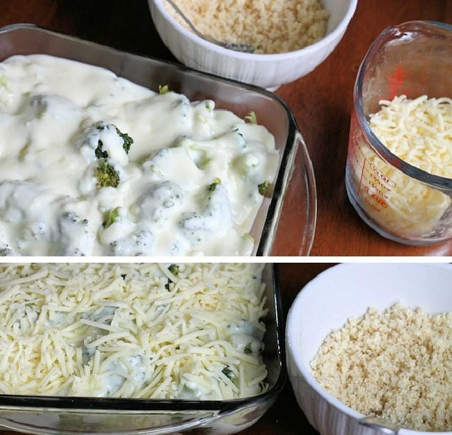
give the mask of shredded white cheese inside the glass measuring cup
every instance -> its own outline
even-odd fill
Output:
[[[452,99],[423,95],[411,100],[401,95],[392,101],[381,100],[380,105],[382,108],[369,116],[369,126],[382,144],[410,165],[452,178]],[[363,149],[363,154],[391,180],[378,219],[393,231],[412,235],[438,231],[451,198],[388,165],[370,149]]]

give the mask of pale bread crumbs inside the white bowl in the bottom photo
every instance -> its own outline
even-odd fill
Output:
[[[369,308],[325,338],[311,368],[328,393],[366,416],[452,431],[452,313]]]

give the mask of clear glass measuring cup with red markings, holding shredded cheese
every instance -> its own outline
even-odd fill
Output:
[[[355,81],[346,163],[348,199],[366,224],[399,243],[440,243],[452,238],[452,179],[401,160],[368,124],[381,99],[401,95],[452,97],[452,26],[406,22],[373,42]]]

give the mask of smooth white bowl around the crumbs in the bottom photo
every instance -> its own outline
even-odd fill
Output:
[[[427,313],[452,311],[452,266],[433,263],[346,263],[318,274],[297,295],[286,322],[286,354],[293,392],[300,408],[321,435],[395,434],[378,420],[366,420],[330,395],[314,379],[309,363],[332,329],[369,306],[396,302]],[[381,424],[382,423],[382,424]],[[426,435],[400,429],[399,435]],[[452,432],[434,432],[435,435]]]

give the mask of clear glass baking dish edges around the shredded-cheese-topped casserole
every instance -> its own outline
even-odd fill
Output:
[[[234,434],[255,423],[286,382],[284,322],[277,266],[263,272],[268,315],[263,359],[268,391],[239,400],[143,400],[0,395],[0,427],[34,434]]]

